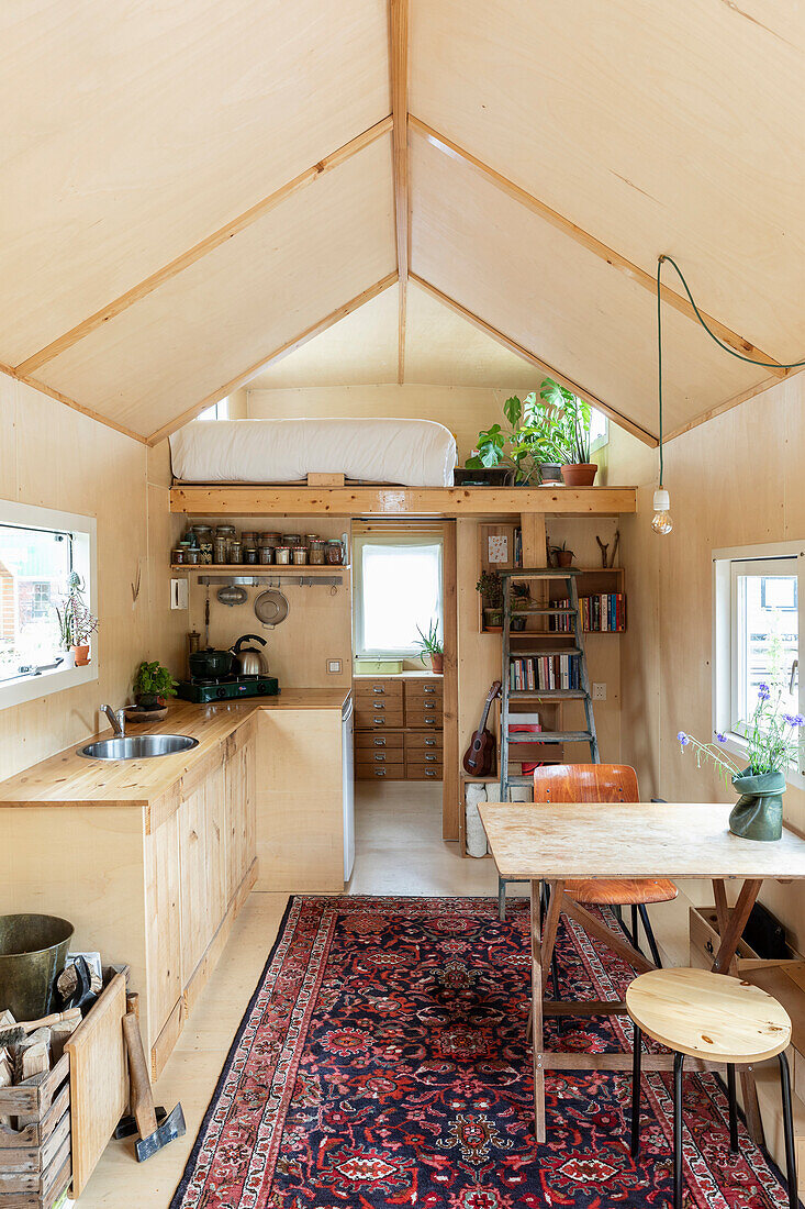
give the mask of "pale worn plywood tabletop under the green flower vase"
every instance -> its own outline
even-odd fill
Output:
[[[805,840],[763,844],[729,831],[731,806],[685,803],[481,804],[504,878],[805,878]]]

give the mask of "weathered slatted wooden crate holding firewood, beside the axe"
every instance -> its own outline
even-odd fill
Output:
[[[0,1122],[7,1117],[18,1128],[0,1123],[0,1209],[51,1209],[73,1176],[70,1055],[24,1086],[0,1088]]]

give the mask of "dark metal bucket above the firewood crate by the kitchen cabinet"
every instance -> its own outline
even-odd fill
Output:
[[[37,1020],[53,1011],[73,931],[57,915],[0,915],[0,1012]]]

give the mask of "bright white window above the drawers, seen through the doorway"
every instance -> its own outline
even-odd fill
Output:
[[[354,539],[354,637],[359,659],[419,654],[419,630],[442,635],[441,536]]]

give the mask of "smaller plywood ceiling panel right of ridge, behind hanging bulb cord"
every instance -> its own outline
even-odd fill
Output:
[[[422,138],[411,164],[417,276],[654,432],[650,294]],[[668,429],[766,375],[668,308],[664,348]]]

